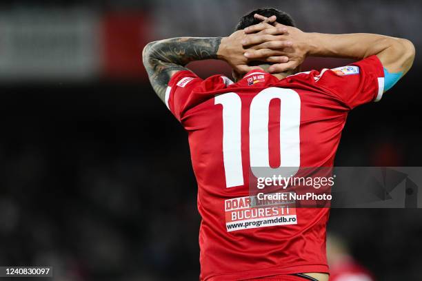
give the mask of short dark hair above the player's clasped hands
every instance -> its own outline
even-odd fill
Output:
[[[254,14],[261,14],[261,16],[264,17],[276,16],[277,23],[289,26],[296,26],[292,17],[290,17],[290,14],[274,8],[261,8],[253,10],[249,14],[245,14],[243,17],[241,17],[239,23],[237,23],[236,25],[236,30],[242,30],[243,28],[247,28],[250,25],[260,23],[261,21],[254,18]]]

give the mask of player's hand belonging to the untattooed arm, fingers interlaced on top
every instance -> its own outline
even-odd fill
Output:
[[[274,17],[255,14],[263,22],[245,28],[243,47],[248,48],[245,56],[254,61],[274,63],[268,69],[271,73],[294,70],[308,54],[307,34],[298,28],[282,25]],[[288,61],[279,61],[280,56],[288,56]]]

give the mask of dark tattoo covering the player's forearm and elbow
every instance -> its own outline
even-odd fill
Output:
[[[150,78],[152,88],[161,101],[172,75],[191,61],[217,59],[221,37],[180,37],[149,43],[143,49],[143,65]]]

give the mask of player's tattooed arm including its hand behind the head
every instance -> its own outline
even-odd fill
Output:
[[[185,65],[192,61],[220,59],[240,74],[257,68],[248,66],[250,60],[243,55],[245,53],[241,44],[243,39],[245,39],[245,32],[239,30],[228,37],[180,37],[154,41],[148,43],[143,49],[143,65],[154,91],[161,101],[164,101],[165,90],[172,76],[181,70],[188,70]],[[281,56],[278,53],[281,52],[274,54],[273,62],[288,61],[287,56]]]

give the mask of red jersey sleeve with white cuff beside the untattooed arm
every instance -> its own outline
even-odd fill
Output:
[[[377,56],[332,70],[324,69],[314,76],[315,85],[323,87],[350,109],[379,101],[384,91],[384,71]]]

